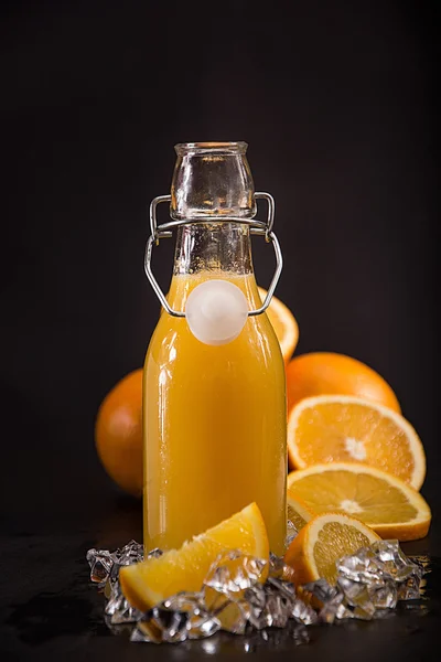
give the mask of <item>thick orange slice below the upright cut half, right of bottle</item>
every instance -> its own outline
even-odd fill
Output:
[[[383,538],[413,541],[429,531],[431,513],[417,490],[369,465],[332,462],[288,474],[288,489],[318,514],[354,515]]]

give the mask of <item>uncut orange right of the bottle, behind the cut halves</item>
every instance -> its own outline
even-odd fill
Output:
[[[295,356],[287,366],[288,412],[303,397],[356,395],[400,412],[389,384],[365,363],[332,352]]]

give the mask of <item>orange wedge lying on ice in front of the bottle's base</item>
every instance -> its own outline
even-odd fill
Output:
[[[211,565],[227,549],[268,560],[267,531],[256,503],[179,549],[122,567],[119,572],[122,592],[133,607],[146,611],[179,591],[197,591]]]

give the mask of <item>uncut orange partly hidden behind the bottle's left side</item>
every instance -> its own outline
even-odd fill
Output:
[[[104,398],[95,424],[99,459],[126,492],[142,494],[142,370],[120,380]]]

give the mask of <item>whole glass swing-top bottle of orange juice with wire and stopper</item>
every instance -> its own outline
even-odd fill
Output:
[[[270,195],[254,191],[244,142],[183,143],[170,196],[151,205],[146,269],[163,307],[144,364],[143,526],[147,549],[175,548],[256,501],[270,549],[284,549],[284,367],[262,310],[281,268]],[[255,218],[256,197],[269,203]],[[155,206],[172,221],[157,226]],[[166,299],[154,244],[176,229]],[[278,269],[262,306],[250,234],[272,242]]]

